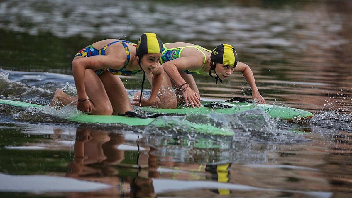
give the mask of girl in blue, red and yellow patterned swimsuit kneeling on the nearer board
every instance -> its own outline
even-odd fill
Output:
[[[128,94],[118,75],[133,75],[142,70],[154,76],[151,79],[150,98],[133,104],[154,104],[164,73],[159,63],[161,47],[162,42],[155,33],[144,33],[137,45],[129,41],[106,39],[83,48],[72,61],[77,97],[58,89],[51,106],[74,104],[78,110],[92,115],[132,111]]]

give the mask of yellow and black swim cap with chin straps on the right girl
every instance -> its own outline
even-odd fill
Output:
[[[236,67],[238,62],[236,50],[235,48],[232,47],[232,45],[225,44],[225,43],[220,44],[212,51],[212,54],[210,55],[210,61],[212,63],[215,63],[215,64],[210,64],[210,69],[209,69],[209,75],[213,78],[211,72],[212,70],[214,70],[215,72],[216,63],[225,64],[231,67]],[[215,79],[216,79],[216,84],[218,84],[218,80],[222,82],[218,74],[216,74]]]

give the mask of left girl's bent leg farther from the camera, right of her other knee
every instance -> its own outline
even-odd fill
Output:
[[[130,99],[128,99],[128,93],[126,92],[125,86],[120,77],[111,74],[107,70],[100,74],[99,77],[112,105],[113,115],[132,111],[132,105]]]

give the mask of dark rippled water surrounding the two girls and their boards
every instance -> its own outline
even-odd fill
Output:
[[[0,2],[0,99],[47,105],[57,88],[75,94],[78,50],[156,32],[234,45],[267,103],[314,113],[298,123],[236,115],[236,135],[223,137],[0,105],[0,197],[351,197],[351,11],[328,0]],[[129,93],[141,77],[122,77]],[[241,74],[195,79],[203,99],[251,98]]]

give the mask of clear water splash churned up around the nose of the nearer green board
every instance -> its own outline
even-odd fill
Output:
[[[196,134],[191,125],[207,124],[208,130],[216,135],[232,135],[233,141],[258,141],[295,143],[305,138],[289,130],[277,127],[278,119],[269,118],[262,110],[254,109],[235,114],[211,113],[206,115],[186,115],[158,117],[145,128],[148,134],[175,134],[188,136]],[[217,129],[217,130],[216,130]],[[215,131],[215,132],[214,132]],[[210,134],[210,133],[209,133]]]

